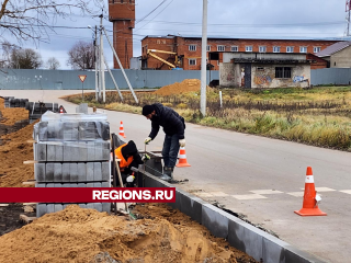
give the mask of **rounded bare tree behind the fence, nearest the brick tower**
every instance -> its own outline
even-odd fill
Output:
[[[72,69],[93,69],[95,68],[95,49],[93,43],[79,41],[68,52],[68,66]]]

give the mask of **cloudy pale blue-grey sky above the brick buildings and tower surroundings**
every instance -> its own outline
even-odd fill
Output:
[[[140,56],[140,41],[147,35],[200,36],[202,4],[203,0],[136,0],[133,55]],[[346,0],[208,0],[208,36],[342,37],[347,27],[346,15]],[[99,23],[99,18],[77,13],[69,20],[58,20],[56,25],[86,27]],[[112,30],[106,18],[104,26]],[[67,52],[78,41],[91,41],[92,32],[88,27],[57,28],[56,33],[49,33],[49,37],[47,44],[24,43],[23,47],[36,49],[44,61],[54,56],[60,61],[60,69],[69,69]],[[106,41],[104,48],[112,66],[112,52]]]

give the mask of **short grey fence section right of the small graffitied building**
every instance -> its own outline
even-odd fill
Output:
[[[326,68],[310,70],[310,84],[350,84],[351,68]]]

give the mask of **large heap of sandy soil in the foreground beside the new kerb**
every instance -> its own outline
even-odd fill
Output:
[[[0,261],[256,262],[166,205],[135,208],[135,213],[145,211],[151,219],[131,221],[68,206],[0,237]]]

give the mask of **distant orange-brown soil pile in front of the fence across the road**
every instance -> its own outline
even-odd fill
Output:
[[[207,87],[208,88],[208,87]],[[165,85],[155,91],[158,95],[173,95],[201,90],[201,81],[199,79],[185,79],[182,82]]]

